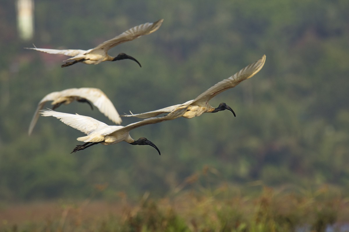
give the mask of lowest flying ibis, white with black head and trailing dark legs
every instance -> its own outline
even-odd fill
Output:
[[[61,113],[53,110],[41,110],[40,113],[42,114],[42,116],[45,117],[56,117],[68,126],[78,129],[81,132],[87,134],[87,136],[77,138],[78,141],[85,143],[82,145],[76,145],[76,147],[70,153],[86,149],[87,147],[90,147],[98,143],[102,143],[103,145],[110,145],[120,143],[121,141],[125,141],[132,145],[150,145],[154,147],[160,155],[160,151],[154,143],[150,142],[148,139],[144,137],[141,137],[138,140],[134,140],[129,135],[129,131],[140,126],[145,126],[148,124],[154,124],[181,117],[186,110],[186,108],[183,108],[164,117],[144,119],[139,122],[131,123],[125,127],[108,126],[105,123],[98,121],[94,118],[79,114]]]

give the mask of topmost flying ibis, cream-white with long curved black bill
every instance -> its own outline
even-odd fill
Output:
[[[114,46],[117,46],[121,43],[134,40],[142,35],[148,35],[150,33],[153,33],[159,27],[161,26],[164,19],[160,19],[154,23],[144,23],[139,26],[135,26],[124,33],[118,35],[117,37],[114,37],[113,39],[107,40],[100,45],[98,45],[95,48],[89,49],[89,50],[80,50],[80,49],[66,49],[66,50],[57,50],[57,49],[46,49],[46,48],[25,48],[25,49],[34,49],[37,51],[42,51],[44,53],[50,53],[50,54],[62,54],[66,56],[72,56],[72,58],[69,58],[66,61],[72,61],[72,62],[66,62],[65,64],[62,64],[61,67],[67,67],[79,62],[85,63],[85,64],[99,64],[103,61],[118,61],[120,59],[132,59],[133,61],[137,62],[140,67],[141,64],[132,56],[128,56],[125,53],[120,53],[116,57],[112,57],[108,55],[108,50],[111,49]]]

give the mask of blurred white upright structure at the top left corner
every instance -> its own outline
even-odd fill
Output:
[[[34,0],[17,0],[17,27],[23,40],[34,35]]]

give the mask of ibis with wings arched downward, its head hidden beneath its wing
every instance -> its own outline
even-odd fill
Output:
[[[92,104],[95,105],[99,111],[116,124],[121,124],[122,121],[113,103],[102,90],[97,88],[65,89],[47,94],[43,99],[41,99],[30,122],[28,130],[29,135],[31,135],[35,124],[38,121],[40,116],[39,111],[43,109],[45,103],[48,101],[52,101],[51,104],[53,105],[53,110],[57,109],[62,104],[68,105],[73,101],[86,102],[90,105],[91,109],[93,109]]]

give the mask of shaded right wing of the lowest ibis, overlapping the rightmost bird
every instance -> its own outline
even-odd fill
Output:
[[[172,112],[164,117],[148,118],[148,119],[144,119],[144,120],[139,121],[139,122],[131,123],[131,124],[121,128],[121,129],[116,130],[114,133],[119,133],[119,131],[127,131],[128,132],[128,131],[133,130],[133,129],[140,127],[140,126],[145,126],[148,124],[154,124],[154,123],[158,123],[158,122],[163,122],[163,121],[168,121],[168,120],[173,120],[173,119],[179,118],[187,111],[187,108],[188,107],[185,107],[183,109],[174,111],[174,112]],[[112,135],[112,134],[113,133],[111,133],[110,135]]]

